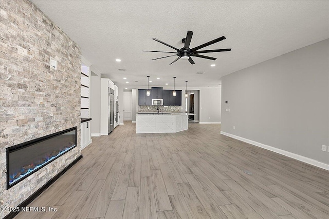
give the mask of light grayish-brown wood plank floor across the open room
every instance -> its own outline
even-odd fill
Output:
[[[329,171],[189,124],[136,134],[126,121],[15,218],[329,218]],[[247,174],[244,171],[250,171]]]

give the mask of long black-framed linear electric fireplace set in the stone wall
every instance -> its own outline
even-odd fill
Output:
[[[77,127],[7,148],[7,189],[77,146]]]

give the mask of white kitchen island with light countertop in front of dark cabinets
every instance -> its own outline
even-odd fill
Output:
[[[175,133],[188,129],[188,116],[192,113],[138,113],[136,133]]]

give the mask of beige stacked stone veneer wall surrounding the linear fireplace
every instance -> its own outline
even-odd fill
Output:
[[[31,2],[2,0],[0,10],[0,207],[15,207],[80,155],[81,51]],[[7,190],[6,148],[75,126],[76,148]]]

